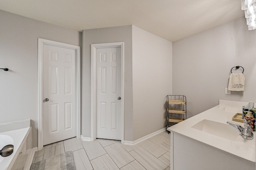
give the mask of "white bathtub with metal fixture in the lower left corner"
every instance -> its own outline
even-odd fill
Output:
[[[20,126],[19,122],[18,124],[15,123],[4,123],[0,125],[0,129],[8,129],[8,126],[11,131],[4,131],[0,132],[0,149],[6,145],[14,145],[13,153],[10,156],[2,157],[0,156],[0,169],[1,170],[10,170],[12,168],[12,165],[14,164],[18,154],[20,153],[24,143],[26,142],[26,139],[28,137],[28,134],[31,130],[30,127],[30,120],[29,120],[29,126],[22,128],[24,126]],[[15,129],[21,128],[21,129]]]

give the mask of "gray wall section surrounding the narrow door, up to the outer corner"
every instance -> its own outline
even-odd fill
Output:
[[[124,140],[132,141],[132,25],[83,31],[82,135],[91,137],[91,44],[124,42]]]

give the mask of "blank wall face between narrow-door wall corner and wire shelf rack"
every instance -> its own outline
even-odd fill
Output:
[[[132,26],[133,140],[166,127],[172,42]]]

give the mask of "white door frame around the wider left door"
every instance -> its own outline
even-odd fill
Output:
[[[43,46],[54,45],[76,50],[76,137],[80,138],[80,47],[38,38],[38,150],[43,148]]]

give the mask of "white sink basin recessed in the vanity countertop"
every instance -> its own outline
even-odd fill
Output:
[[[238,130],[235,129],[234,127],[216,121],[204,119],[196,123],[194,126],[192,126],[192,128],[202,132],[210,133],[218,137],[228,139],[230,141],[243,142],[246,140],[241,137]]]

